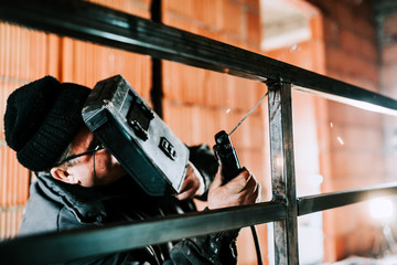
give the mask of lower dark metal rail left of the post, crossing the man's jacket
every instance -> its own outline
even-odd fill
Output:
[[[286,205],[264,202],[105,227],[19,237],[0,243],[2,264],[51,264],[267,223],[286,218]]]

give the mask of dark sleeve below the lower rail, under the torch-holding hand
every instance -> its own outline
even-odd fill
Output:
[[[213,233],[179,242],[164,265],[234,265],[238,230]]]

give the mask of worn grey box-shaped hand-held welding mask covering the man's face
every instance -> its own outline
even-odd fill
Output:
[[[87,127],[148,194],[180,191],[187,147],[121,75],[98,82],[82,115]]]

